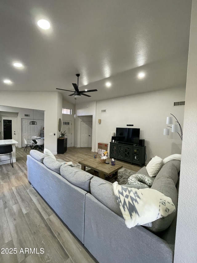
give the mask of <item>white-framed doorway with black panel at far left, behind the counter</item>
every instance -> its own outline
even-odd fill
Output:
[[[0,118],[0,140],[13,139],[17,141],[17,121],[16,118]]]

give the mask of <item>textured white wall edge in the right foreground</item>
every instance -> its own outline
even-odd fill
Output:
[[[174,263],[197,262],[197,0],[192,1]]]

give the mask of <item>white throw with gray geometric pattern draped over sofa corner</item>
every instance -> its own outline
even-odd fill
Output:
[[[144,225],[175,212],[170,197],[151,188],[129,188],[113,183],[116,201],[128,228]]]

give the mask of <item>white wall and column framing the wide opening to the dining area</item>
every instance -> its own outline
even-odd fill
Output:
[[[30,98],[33,99],[30,100]],[[0,105],[44,110],[44,146],[57,154],[58,118],[62,117],[62,95],[60,93],[1,91]],[[55,135],[50,136],[50,133],[55,133]]]

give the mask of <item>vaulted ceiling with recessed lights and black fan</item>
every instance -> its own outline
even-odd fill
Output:
[[[0,90],[74,91],[76,73],[98,90],[77,102],[185,86],[190,15],[191,0],[1,0]]]

